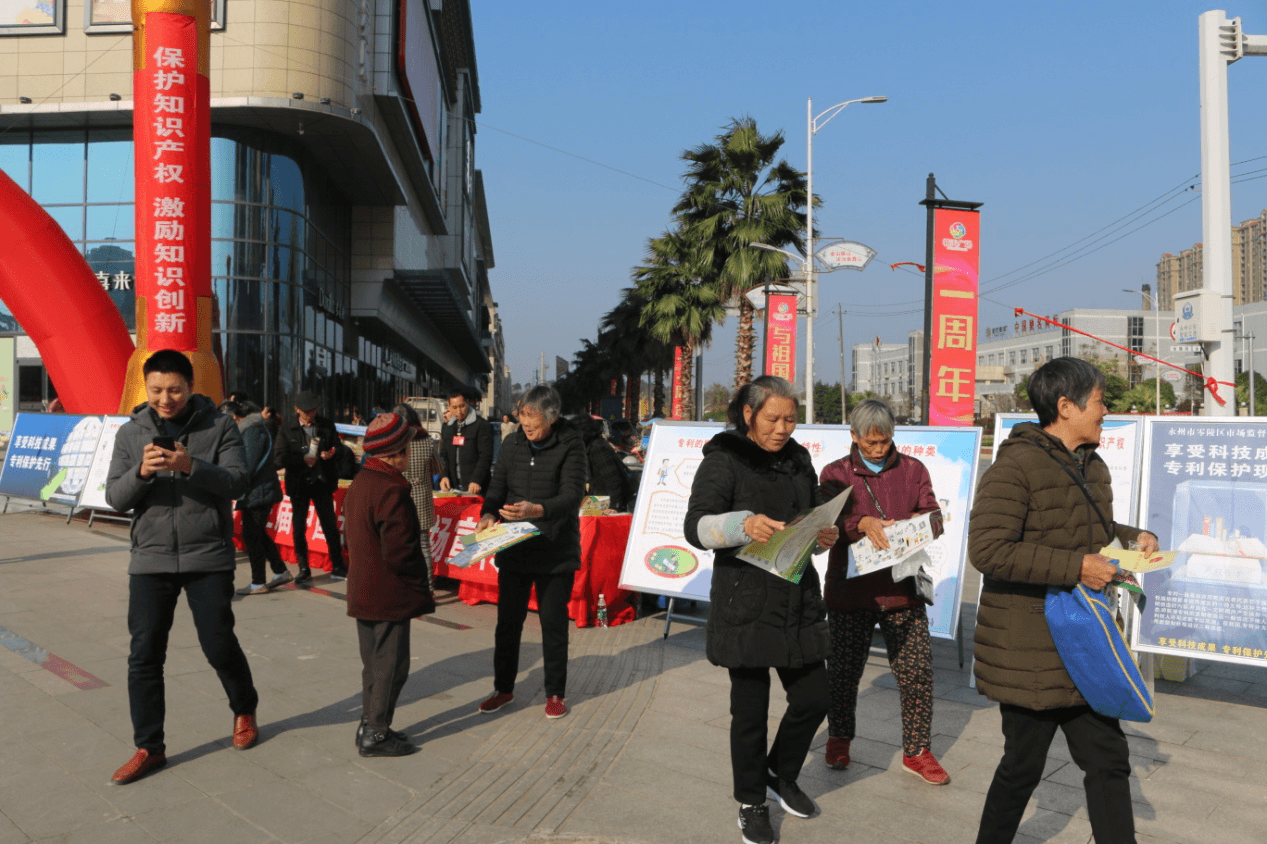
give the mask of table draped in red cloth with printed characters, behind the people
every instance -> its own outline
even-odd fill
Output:
[[[338,518],[340,532],[343,531],[346,493],[346,489],[334,490],[334,516]],[[436,525],[431,530],[431,558],[435,560],[436,577],[457,580],[459,599],[471,606],[481,602],[497,603],[497,558],[480,560],[465,569],[450,566],[449,560],[462,550],[457,537],[475,531],[483,503],[484,499],[479,496],[436,498]],[[580,570],[571,587],[571,601],[568,602],[568,616],[578,627],[592,627],[598,623],[599,594],[607,601],[607,623],[622,625],[634,621],[636,593],[620,588],[621,564],[632,521],[634,517],[630,515],[580,517]],[[233,541],[241,549],[242,526],[237,512],[234,512],[234,526]],[[277,544],[281,559],[294,563],[294,513],[289,497],[283,498],[281,503],[272,508],[267,531]],[[328,572],[329,549],[314,508],[308,511],[307,532],[309,566]],[[536,594],[532,596],[528,607],[537,608]]]

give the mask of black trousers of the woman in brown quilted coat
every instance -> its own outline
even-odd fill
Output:
[[[1007,844],[1016,836],[1025,805],[1043,778],[1057,727],[1064,730],[1069,755],[1082,769],[1096,844],[1134,844],[1130,751],[1117,719],[1100,715],[1090,706],[1029,710],[1002,703],[1000,711],[1003,758],[986,793],[977,844]]]

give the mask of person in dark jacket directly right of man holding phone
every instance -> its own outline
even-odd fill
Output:
[[[269,513],[272,506],[281,501],[281,482],[272,466],[272,427],[260,414],[260,411],[247,400],[226,402],[220,409],[237,422],[242,435],[242,447],[246,451],[247,490],[237,501],[242,513],[242,542],[251,558],[251,583],[237,591],[238,594],[267,594],[294,578],[286,572],[277,544],[269,536]],[[265,579],[264,564],[272,569],[272,578]]]

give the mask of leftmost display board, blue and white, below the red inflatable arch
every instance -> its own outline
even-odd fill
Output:
[[[73,507],[100,435],[99,416],[19,413],[0,471],[0,496]]]

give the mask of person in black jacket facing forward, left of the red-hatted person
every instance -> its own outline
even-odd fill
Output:
[[[295,583],[313,579],[308,568],[308,504],[317,511],[317,520],[329,549],[329,575],[333,580],[347,577],[343,550],[334,517],[334,489],[338,488],[338,435],[334,423],[317,413],[321,402],[304,390],[295,397],[295,418],[286,421],[277,432],[275,457],[277,469],[286,470],[286,494],[290,496],[295,536],[295,561],[299,574]]]

